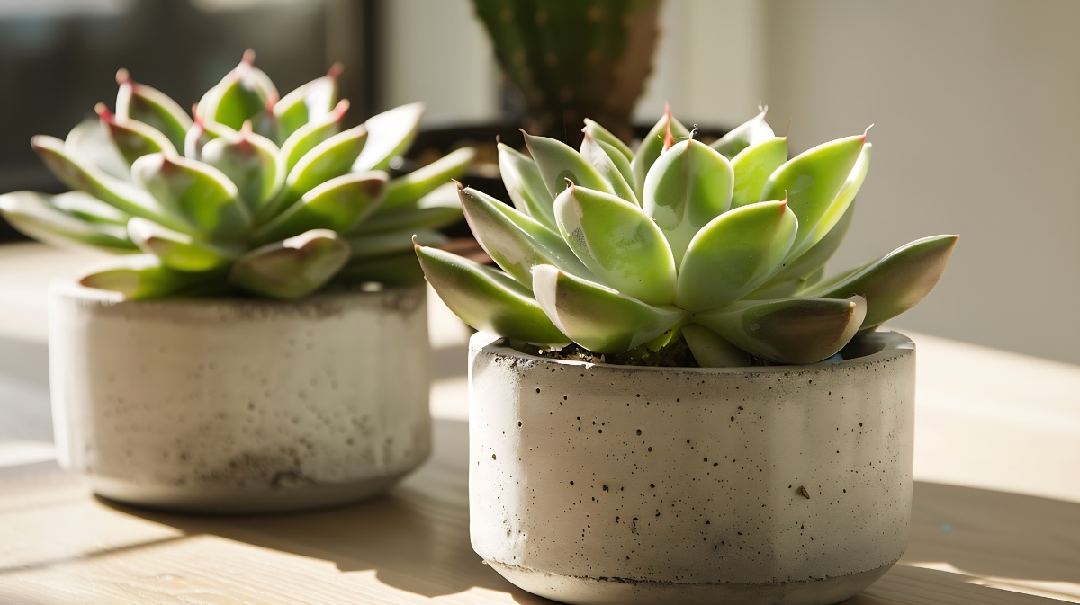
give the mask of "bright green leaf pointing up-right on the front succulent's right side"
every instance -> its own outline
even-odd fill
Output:
[[[761,201],[786,196],[787,205],[799,219],[799,231],[792,247],[793,259],[824,237],[827,230],[819,224],[823,219],[835,224],[842,216],[843,212],[832,215],[828,210],[865,142],[864,134],[820,145],[784,163],[765,183]]]

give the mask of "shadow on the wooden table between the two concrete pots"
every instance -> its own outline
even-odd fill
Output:
[[[552,603],[526,593],[483,563],[469,542],[469,428],[435,420],[431,459],[389,494],[330,510],[255,517],[194,517],[113,508],[189,535],[211,534],[334,562],[342,572],[374,569],[383,583],[428,597],[471,588],[509,592],[524,604]]]

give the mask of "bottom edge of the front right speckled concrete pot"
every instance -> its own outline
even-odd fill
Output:
[[[514,586],[571,605],[832,605],[853,596],[885,575],[876,569],[805,582],[683,583],[631,578],[588,578],[484,560]]]

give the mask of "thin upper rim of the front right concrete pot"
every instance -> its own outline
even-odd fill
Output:
[[[548,363],[556,367],[568,367],[575,369],[588,369],[591,371],[621,371],[621,372],[688,372],[694,374],[775,374],[780,372],[820,372],[831,369],[855,369],[870,366],[887,359],[897,359],[915,354],[915,342],[908,336],[894,330],[876,331],[861,339],[860,346],[870,348],[867,354],[843,359],[842,361],[816,363],[801,363],[787,366],[747,366],[741,368],[689,368],[689,367],[650,367],[650,366],[627,366],[619,363],[593,363],[590,361],[579,361],[572,359],[552,359],[522,353],[505,344],[510,340],[492,332],[480,331],[469,339],[469,348],[477,353],[483,352],[488,355],[507,358],[517,358],[529,360],[534,363]],[[850,344],[848,346],[851,346]],[[847,349],[848,347],[845,347]]]

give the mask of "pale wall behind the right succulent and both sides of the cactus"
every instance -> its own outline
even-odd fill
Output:
[[[386,3],[388,105],[498,114],[467,0]],[[1080,2],[669,0],[637,115],[735,123],[758,101],[793,151],[870,123],[874,163],[834,269],[959,233],[893,325],[1080,363]]]

